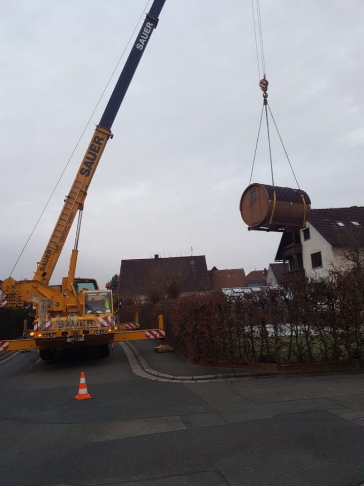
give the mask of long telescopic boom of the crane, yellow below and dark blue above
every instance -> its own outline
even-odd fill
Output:
[[[94,177],[101,155],[106,143],[111,136],[111,127],[124,99],[131,79],[134,75],[139,61],[147,47],[153,30],[157,27],[158,17],[163,8],[165,0],[154,0],[149,13],[140,29],[138,37],[130,51],[125,66],[119,76],[118,82],[110,97],[109,103],[101,117],[100,124],[90,141],[87,151],[82,159],[76,178],[71,190],[65,199],[65,204],[53,230],[43,256],[38,264],[33,280],[48,285],[62,252],[65,241],[71,229],[78,210],[83,208],[87,190]]]

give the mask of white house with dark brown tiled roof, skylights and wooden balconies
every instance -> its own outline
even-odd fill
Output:
[[[283,233],[276,261],[287,262],[288,278],[319,277],[363,253],[364,207],[312,209],[304,228]]]

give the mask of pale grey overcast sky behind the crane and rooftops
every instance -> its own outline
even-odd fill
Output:
[[[0,279],[9,276],[145,5],[2,2]],[[260,10],[268,101],[300,187],[312,208],[363,205],[364,2],[260,0]],[[32,278],[125,60],[14,278]],[[248,232],[239,212],[262,105],[258,82],[251,0],[166,0],[88,190],[77,275],[103,287],[122,259],[187,256],[191,247],[206,255],[209,269],[248,273],[274,262],[280,234]],[[277,134],[271,138],[275,183],[295,187]],[[271,182],[264,130],[253,182]],[[67,273],[74,233],[75,225],[53,283]]]

